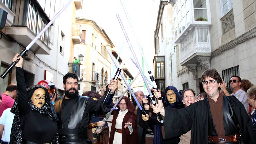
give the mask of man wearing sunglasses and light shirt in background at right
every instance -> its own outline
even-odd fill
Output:
[[[232,94],[233,96],[235,96],[243,105],[244,108],[246,110],[246,112],[248,113],[249,110],[249,105],[248,105],[248,101],[247,101],[247,93],[245,91],[243,91],[240,88],[241,85],[241,78],[239,76],[232,76],[229,83],[230,83],[230,88],[232,89]]]

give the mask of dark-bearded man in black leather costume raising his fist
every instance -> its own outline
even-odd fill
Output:
[[[117,80],[111,79],[108,88],[111,89],[110,99],[103,103],[103,98],[98,101],[78,94],[78,77],[76,74],[67,73],[63,77],[65,96],[54,104],[59,117],[57,122],[60,144],[90,144],[87,127],[92,114],[106,114],[112,106],[112,98],[117,88]]]

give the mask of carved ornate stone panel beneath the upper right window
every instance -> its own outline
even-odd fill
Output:
[[[233,29],[235,27],[233,9],[230,10],[220,20],[221,20],[222,34],[225,34],[231,29]]]

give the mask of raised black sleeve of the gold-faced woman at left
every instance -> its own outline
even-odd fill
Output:
[[[28,112],[29,105],[23,68],[16,67],[16,81],[18,89],[19,115],[24,116]]]

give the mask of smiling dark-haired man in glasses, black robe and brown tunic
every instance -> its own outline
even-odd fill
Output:
[[[191,130],[191,144],[256,144],[256,132],[243,104],[234,96],[220,94],[222,81],[216,69],[206,70],[200,82],[207,98],[184,109],[153,107],[165,120],[165,139]]]

